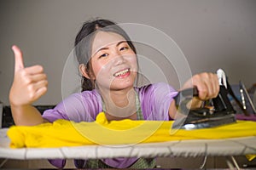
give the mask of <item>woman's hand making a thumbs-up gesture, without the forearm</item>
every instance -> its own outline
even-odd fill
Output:
[[[11,105],[31,105],[47,91],[47,77],[41,65],[24,67],[20,48],[13,46],[15,77],[9,92]]]

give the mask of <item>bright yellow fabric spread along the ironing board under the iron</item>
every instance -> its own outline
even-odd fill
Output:
[[[256,122],[238,121],[220,127],[177,130],[172,121],[122,121],[108,122],[100,113],[96,122],[57,120],[38,126],[13,126],[8,136],[11,148],[61,147],[88,144],[137,144],[184,139],[227,139],[256,136]]]

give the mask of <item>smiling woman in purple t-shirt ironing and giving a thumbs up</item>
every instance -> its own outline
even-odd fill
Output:
[[[43,67],[24,67],[20,49],[15,53],[15,78],[9,101],[16,125],[38,125],[67,119],[74,122],[92,122],[104,111],[108,120],[164,120],[174,118],[177,91],[166,83],[135,87],[137,79],[137,52],[125,31],[110,20],[90,20],[84,23],[75,40],[75,54],[82,75],[82,92],[72,94],[43,116],[32,103],[47,91],[47,77]],[[183,88],[196,86],[201,100],[218,95],[218,77],[201,73],[192,77]],[[20,90],[22,89],[22,90]],[[50,161],[64,167],[65,160]],[[75,160],[77,167],[154,167],[154,159],[117,158],[102,160]]]

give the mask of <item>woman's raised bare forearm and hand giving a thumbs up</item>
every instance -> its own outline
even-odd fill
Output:
[[[16,125],[38,125],[47,122],[32,103],[47,91],[47,77],[43,67],[24,67],[20,48],[13,46],[15,53],[15,77],[9,92],[9,102]]]

